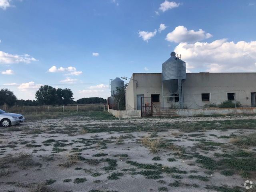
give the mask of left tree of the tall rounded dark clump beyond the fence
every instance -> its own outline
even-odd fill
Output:
[[[54,105],[56,103],[56,89],[44,85],[36,92],[36,99],[43,105]]]

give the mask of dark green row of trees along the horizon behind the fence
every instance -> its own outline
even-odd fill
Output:
[[[41,86],[36,92],[36,100],[18,100],[14,93],[8,89],[0,90],[0,106],[37,106],[37,105],[68,105],[68,104],[90,104],[106,103],[106,99],[99,97],[82,98],[74,101],[73,92],[70,89],[53,88],[52,86]]]

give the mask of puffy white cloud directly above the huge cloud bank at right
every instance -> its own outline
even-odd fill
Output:
[[[204,30],[199,29],[198,31],[188,30],[184,26],[176,27],[172,32],[168,33],[166,40],[170,42],[197,42],[203,39],[212,37],[210,33],[206,33]]]

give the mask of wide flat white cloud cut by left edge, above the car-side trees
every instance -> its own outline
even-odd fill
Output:
[[[0,51],[0,64],[14,64],[14,63],[31,63],[32,61],[38,61],[28,54],[25,55],[13,55]]]

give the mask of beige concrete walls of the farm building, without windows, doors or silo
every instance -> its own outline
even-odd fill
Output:
[[[163,84],[161,73],[135,73],[132,74],[126,90],[126,110],[137,109],[137,95],[159,94],[160,102],[154,103],[158,108],[178,108],[178,102],[170,97],[168,84]],[[220,104],[226,101],[227,93],[235,93],[236,101],[243,106],[251,106],[251,92],[256,92],[256,73],[187,73],[183,82],[184,107],[204,108],[205,104]],[[210,101],[202,102],[202,93],[210,94]],[[164,97],[163,97],[164,96]],[[144,102],[149,102],[145,98]]]

